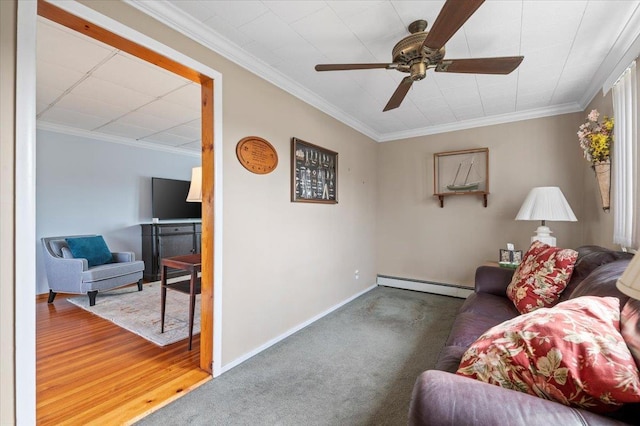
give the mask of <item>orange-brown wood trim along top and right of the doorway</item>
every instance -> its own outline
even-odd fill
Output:
[[[38,15],[139,59],[180,75],[202,86],[202,306],[200,368],[213,375],[213,194],[214,194],[214,115],[213,79],[147,47],[73,15],[44,0],[38,0]],[[205,255],[206,254],[206,255]]]

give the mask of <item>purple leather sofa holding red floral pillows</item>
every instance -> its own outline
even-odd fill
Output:
[[[616,280],[632,255],[598,246],[577,249],[571,280],[560,301],[579,296],[615,296],[621,309],[640,304],[616,288]],[[422,373],[413,388],[410,425],[616,425],[640,424],[640,404],[628,404],[607,416],[458,376],[466,349],[494,325],[519,315],[506,296],[512,270],[481,266],[476,270],[475,292],[467,298],[454,321],[435,370]],[[635,347],[640,346],[636,328]],[[628,341],[628,340],[627,340]]]

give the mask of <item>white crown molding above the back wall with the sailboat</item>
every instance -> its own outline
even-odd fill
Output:
[[[584,108],[577,103],[557,105],[549,108],[530,109],[509,114],[493,115],[490,117],[474,118],[472,120],[456,123],[441,124],[437,126],[423,127],[420,129],[405,130],[383,135],[378,142],[391,142],[400,139],[415,138],[419,136],[436,135],[440,133],[455,132],[457,130],[474,129],[477,127],[493,126],[495,124],[513,123],[516,121],[532,120],[535,118],[549,117],[553,115],[569,114],[583,111]]]

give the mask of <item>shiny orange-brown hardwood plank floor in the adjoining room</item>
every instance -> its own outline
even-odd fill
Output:
[[[210,379],[199,335],[159,347],[67,296],[36,302],[38,425],[129,424]]]

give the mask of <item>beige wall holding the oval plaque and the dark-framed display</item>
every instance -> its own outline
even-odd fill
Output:
[[[223,366],[375,283],[374,141],[125,4],[85,4],[223,75]],[[239,164],[250,135],[273,173]],[[339,204],[290,202],[292,136],[339,153]]]

